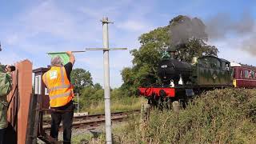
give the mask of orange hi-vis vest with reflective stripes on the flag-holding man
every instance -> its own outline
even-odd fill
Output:
[[[52,66],[43,74],[42,80],[49,90],[50,107],[65,106],[74,97],[64,66]]]

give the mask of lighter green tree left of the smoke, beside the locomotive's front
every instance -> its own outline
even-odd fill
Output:
[[[157,66],[162,53],[170,45],[168,30],[168,26],[159,27],[138,38],[142,46],[130,51],[134,56],[133,67],[122,70],[122,90],[126,94],[135,94],[138,86],[150,86],[159,82]]]

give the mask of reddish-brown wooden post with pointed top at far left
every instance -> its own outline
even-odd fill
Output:
[[[18,144],[25,144],[30,95],[32,93],[32,63],[29,60],[25,60],[17,62],[15,66],[16,70],[13,72],[12,77],[14,89],[17,86],[17,90],[14,94],[13,89],[7,96],[8,101],[10,101],[11,96],[14,94],[8,110],[8,121],[14,130],[11,137],[17,134],[15,138]],[[16,141],[15,138],[9,137],[8,139]]]

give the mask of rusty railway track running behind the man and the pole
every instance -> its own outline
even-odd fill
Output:
[[[139,114],[140,110],[131,110],[125,112],[114,112],[111,113],[111,120],[112,122],[122,122],[126,118],[129,117],[131,114]],[[96,127],[100,126],[102,123],[105,122],[105,114],[90,114],[90,115],[80,115],[75,116],[73,118],[73,128],[75,129],[88,129],[93,130]],[[43,121],[42,128],[44,130],[50,130],[50,120]],[[60,126],[60,130],[62,130],[62,123]]]

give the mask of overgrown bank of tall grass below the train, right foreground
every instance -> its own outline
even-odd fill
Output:
[[[117,143],[255,143],[256,90],[209,91],[186,110],[152,110],[119,131]]]

